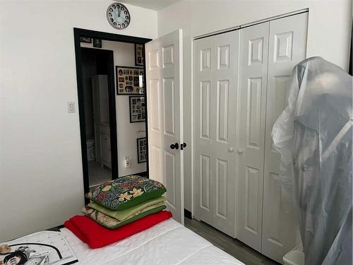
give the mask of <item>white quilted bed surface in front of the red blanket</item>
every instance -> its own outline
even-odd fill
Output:
[[[100,249],[90,249],[66,228],[61,232],[76,254],[76,264],[243,264],[173,219]]]

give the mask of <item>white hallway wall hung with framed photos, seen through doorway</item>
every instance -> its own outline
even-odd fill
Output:
[[[93,48],[93,44],[81,42],[81,47]],[[113,51],[115,75],[115,66],[136,67],[135,45],[133,43],[102,40],[102,49],[109,49]],[[114,80],[116,89],[116,76]],[[136,134],[136,131],[138,130],[145,131],[145,122],[130,123],[130,105],[128,102],[128,97],[128,95],[116,95],[116,130],[118,136],[119,177],[146,171],[146,163],[138,163],[136,140],[138,138],[145,137],[144,132]],[[125,156],[128,156],[130,160],[129,168],[124,167]]]

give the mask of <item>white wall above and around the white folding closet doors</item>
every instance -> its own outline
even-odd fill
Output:
[[[158,11],[159,36],[183,29],[185,113],[191,113],[193,37],[303,8],[309,8],[307,56],[321,56],[347,70],[351,0],[181,0]],[[191,127],[191,115],[184,115],[186,143],[191,143]],[[184,151],[184,176],[185,208],[191,211],[191,148]]]

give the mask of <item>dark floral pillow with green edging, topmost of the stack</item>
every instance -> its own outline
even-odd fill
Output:
[[[86,197],[111,210],[125,210],[166,192],[162,183],[131,175],[93,187]]]

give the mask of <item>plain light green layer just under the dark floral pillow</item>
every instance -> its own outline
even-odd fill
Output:
[[[128,208],[126,210],[121,210],[121,211],[112,211],[107,208],[104,208],[103,206],[100,206],[100,204],[96,204],[95,202],[91,201],[88,206],[90,208],[94,208],[97,211],[100,211],[101,213],[106,214],[107,216],[111,216],[112,218],[115,218],[119,221],[126,220],[129,216],[133,216],[134,214],[140,213],[143,211],[148,206],[160,204],[163,201],[167,201],[167,198],[164,196],[160,196],[155,199],[150,199],[148,201],[143,202],[142,204],[138,204],[136,206],[133,206],[131,208]],[[158,205],[160,206],[160,205]]]

